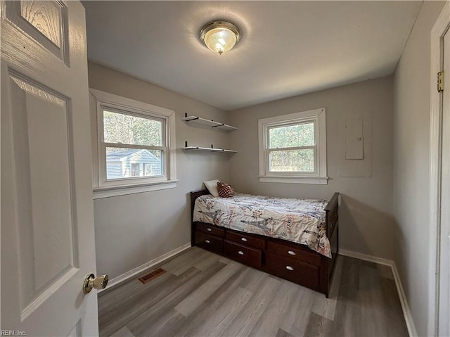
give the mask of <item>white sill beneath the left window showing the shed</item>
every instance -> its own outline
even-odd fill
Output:
[[[94,199],[126,196],[127,194],[159,191],[162,189],[175,189],[178,182],[178,180],[167,180],[166,182],[153,182],[139,185],[95,187],[93,189],[93,194]]]

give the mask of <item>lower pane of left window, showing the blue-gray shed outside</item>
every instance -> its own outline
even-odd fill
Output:
[[[106,148],[106,179],[162,175],[162,151],[145,148]]]

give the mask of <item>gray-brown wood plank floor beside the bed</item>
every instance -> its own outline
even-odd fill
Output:
[[[190,248],[98,298],[101,336],[408,336],[390,267],[339,256],[330,298]],[[152,268],[153,269],[153,268]]]

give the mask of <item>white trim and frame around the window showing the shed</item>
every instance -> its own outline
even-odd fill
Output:
[[[176,188],[178,180],[176,179],[175,163],[175,111],[96,89],[89,89],[89,92],[91,132],[94,145],[92,158],[94,199]],[[98,123],[101,122],[99,118],[103,116],[103,107],[131,112],[134,111],[140,115],[148,115],[165,120],[167,126],[167,176],[158,178],[106,180],[105,167],[102,161],[105,160],[105,158],[103,158],[103,151],[101,151],[102,135],[98,129]]]

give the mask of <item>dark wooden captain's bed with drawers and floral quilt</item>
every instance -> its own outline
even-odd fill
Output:
[[[191,192],[192,246],[319,291],[338,255],[338,197],[330,201]]]

